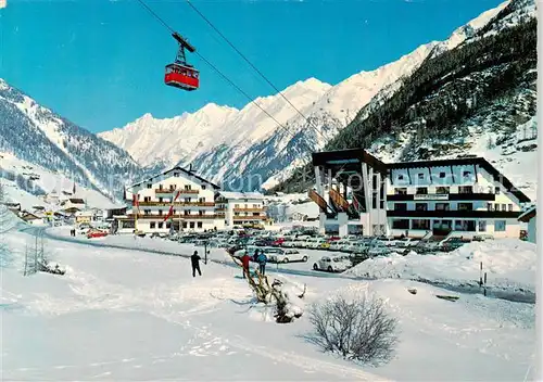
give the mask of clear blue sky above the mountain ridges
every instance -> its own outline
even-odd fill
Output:
[[[193,0],[279,89],[331,85],[379,67],[502,0]],[[147,3],[252,97],[275,93],[184,0]],[[0,77],[98,132],[151,113],[172,117],[209,102],[249,101],[195,56],[201,89],[163,84],[176,42],[136,0],[8,0],[0,10]]]

